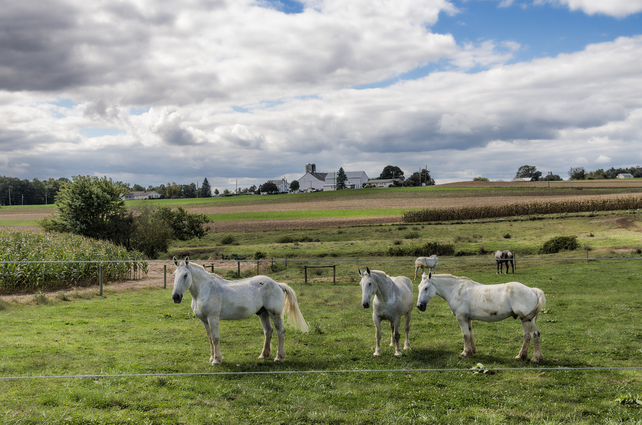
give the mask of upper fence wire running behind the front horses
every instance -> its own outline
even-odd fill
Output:
[[[601,260],[642,260],[642,257],[621,257],[621,258],[594,258],[589,257],[590,261],[601,261]],[[515,257],[510,260],[519,260],[519,261],[586,261],[587,258],[523,258]],[[440,258],[439,261],[510,261],[507,259],[497,260],[495,258]],[[183,261],[179,259],[178,261]],[[306,261],[415,261],[415,258],[299,258],[299,259],[211,259],[211,260],[202,260],[202,259],[190,259],[192,263],[260,263],[265,262],[277,262],[277,261],[288,261],[291,263],[303,263]],[[51,260],[51,261],[0,261],[0,264],[48,264],[48,263],[173,263],[173,260]]]

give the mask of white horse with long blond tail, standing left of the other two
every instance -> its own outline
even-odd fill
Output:
[[[192,311],[200,319],[207,332],[212,365],[221,364],[218,347],[218,324],[220,320],[241,320],[258,315],[263,326],[265,341],[259,359],[270,357],[272,351],[272,324],[279,336],[279,349],[274,361],[285,360],[285,326],[283,315],[288,313],[288,322],[307,332],[308,325],[297,304],[297,295],[290,286],[273,281],[267,276],[254,276],[240,281],[226,281],[218,275],[205,271],[203,266],[189,263],[189,257],[178,263],[174,257],[174,290],[171,298],[180,303],[183,293],[192,295]]]

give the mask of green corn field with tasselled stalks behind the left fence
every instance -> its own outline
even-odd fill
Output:
[[[0,229],[0,261],[114,261],[103,264],[103,281],[147,274],[143,254],[112,243],[71,234],[39,234]],[[98,282],[100,263],[3,263],[0,293],[87,286]]]

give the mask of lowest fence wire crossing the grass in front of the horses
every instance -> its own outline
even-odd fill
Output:
[[[225,376],[225,375],[279,375],[279,374],[345,374],[377,372],[510,372],[532,370],[539,372],[566,372],[568,370],[639,370],[642,367],[481,367],[474,369],[352,369],[352,370],[269,370],[266,372],[191,372],[172,374],[119,374],[119,375],[55,375],[55,376],[0,376],[0,379],[56,379],[78,377],[143,377],[143,376]]]

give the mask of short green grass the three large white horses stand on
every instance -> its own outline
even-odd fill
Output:
[[[368,263],[411,275],[408,263]],[[530,367],[514,357],[519,320],[473,322],[478,354],[461,358],[463,340],[446,303],[436,297],[412,315],[412,349],[395,358],[374,351],[372,310],[361,307],[355,272],[336,284],[292,282],[309,334],[288,329],[286,361],[258,360],[257,317],[221,322],[223,365],[207,363],[202,325],[190,317],[186,293],[171,289],[112,293],[46,305],[10,304],[0,312],[0,374],[121,374],[269,370],[458,368],[461,372],[375,372],[226,377],[123,377],[0,381],[0,423],[47,424],[636,424],[638,408],[613,399],[642,390],[641,373],[500,372]],[[448,263],[441,272],[485,284],[511,280],[546,293],[538,319],[542,367],[639,366],[642,360],[642,273],[632,261],[522,263],[496,275],[477,263]],[[351,278],[354,281],[351,281]],[[418,281],[417,281],[418,282]],[[170,285],[171,287],[171,285]],[[416,295],[415,286],[415,299]],[[173,315],[173,318],[168,317]],[[383,326],[383,341],[390,331]],[[273,354],[275,340],[273,340]],[[531,349],[532,353],[532,349]]]

